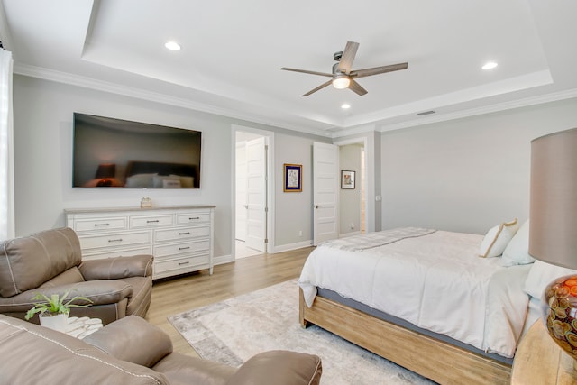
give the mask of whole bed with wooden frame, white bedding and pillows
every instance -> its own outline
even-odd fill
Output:
[[[509,383],[538,316],[527,247],[517,220],[485,236],[409,227],[321,243],[298,280],[300,323],[439,383]]]

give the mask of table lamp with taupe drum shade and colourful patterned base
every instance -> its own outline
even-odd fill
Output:
[[[529,254],[577,269],[577,128],[531,142]],[[570,273],[572,275],[566,275]],[[577,275],[559,274],[542,298],[546,329],[577,360]],[[577,362],[577,361],[575,361]],[[575,365],[577,368],[577,365]]]

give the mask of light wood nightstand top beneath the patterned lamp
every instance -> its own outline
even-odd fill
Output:
[[[540,319],[529,328],[517,348],[511,384],[577,384],[572,358],[554,343]]]

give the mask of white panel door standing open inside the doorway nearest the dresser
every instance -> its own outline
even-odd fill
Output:
[[[246,245],[266,251],[267,234],[267,148],[266,138],[246,143]]]

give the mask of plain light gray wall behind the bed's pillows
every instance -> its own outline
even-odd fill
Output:
[[[381,135],[382,227],[484,234],[529,207],[530,142],[577,127],[577,99]]]

